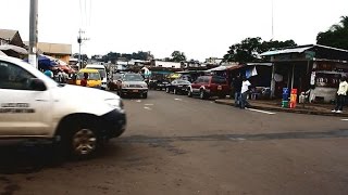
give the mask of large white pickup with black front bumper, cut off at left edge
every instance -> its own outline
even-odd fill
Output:
[[[52,141],[60,152],[87,157],[125,126],[116,94],[57,83],[32,65],[0,55],[0,141]]]

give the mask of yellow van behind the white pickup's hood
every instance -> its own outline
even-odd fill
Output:
[[[80,81],[84,79],[85,73],[88,74],[87,87],[100,89],[101,88],[101,78],[100,78],[100,74],[97,69],[80,69],[77,73],[76,84],[80,86]]]

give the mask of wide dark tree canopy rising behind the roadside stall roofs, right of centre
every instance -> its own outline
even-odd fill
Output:
[[[286,41],[262,41],[260,37],[246,38],[240,43],[229,47],[227,54],[224,55],[225,62],[248,63],[260,60],[259,54],[273,49],[297,46],[294,40]]]

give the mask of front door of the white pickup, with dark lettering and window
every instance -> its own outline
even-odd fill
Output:
[[[0,136],[49,134],[50,93],[30,89],[34,78],[24,68],[0,61]]]

